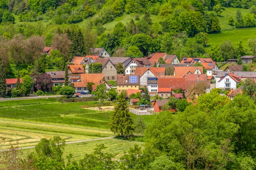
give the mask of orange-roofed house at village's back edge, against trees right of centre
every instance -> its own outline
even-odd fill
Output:
[[[168,55],[166,53],[153,53],[151,55],[148,56],[148,60],[151,63],[151,66],[154,66],[156,64],[156,66],[159,66],[158,60],[159,58],[163,58],[164,61],[166,62],[166,64],[179,64],[180,61],[178,60],[177,56],[172,54],[172,55]]]

